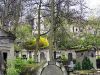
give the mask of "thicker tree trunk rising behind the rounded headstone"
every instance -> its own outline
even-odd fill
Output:
[[[53,61],[53,43],[54,43],[54,0],[51,1],[51,26],[50,26],[50,34],[49,34],[49,54],[50,54],[50,61]]]

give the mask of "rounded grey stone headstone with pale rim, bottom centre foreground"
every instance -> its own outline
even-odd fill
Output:
[[[67,73],[63,65],[49,61],[39,70],[37,75],[67,75]]]

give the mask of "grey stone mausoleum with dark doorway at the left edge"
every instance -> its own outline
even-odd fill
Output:
[[[0,29],[0,75],[3,75],[6,64],[14,59],[15,36]]]

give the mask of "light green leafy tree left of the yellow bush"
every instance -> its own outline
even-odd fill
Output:
[[[22,50],[22,45],[29,39],[34,39],[32,28],[29,24],[20,24],[16,28],[15,51]]]

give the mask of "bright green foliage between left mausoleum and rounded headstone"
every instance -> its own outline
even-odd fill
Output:
[[[21,73],[25,72],[28,73],[31,69],[37,69],[40,65],[35,63],[32,58],[29,60],[24,60],[21,58],[16,58],[16,60],[11,60],[7,64],[7,75],[20,75]],[[22,74],[22,75],[25,75]],[[30,74],[29,74],[30,75]]]

